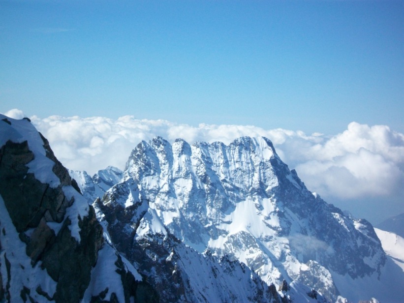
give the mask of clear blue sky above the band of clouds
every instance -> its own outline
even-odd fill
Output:
[[[3,1],[0,112],[404,132],[404,1]]]

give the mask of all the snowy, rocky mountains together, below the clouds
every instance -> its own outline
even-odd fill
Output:
[[[403,256],[266,138],[156,137],[90,177],[0,118],[0,301],[403,302]]]

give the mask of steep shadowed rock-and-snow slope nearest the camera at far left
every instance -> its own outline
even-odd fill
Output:
[[[0,302],[129,302],[156,292],[28,119],[0,115]]]

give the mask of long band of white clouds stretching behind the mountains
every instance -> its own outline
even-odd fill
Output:
[[[5,115],[24,117],[18,109]],[[108,165],[123,169],[132,149],[141,140],[156,135],[170,142],[183,138],[190,144],[195,141],[229,144],[241,136],[265,136],[311,191],[342,209],[352,211],[354,205],[350,203],[359,201],[361,207],[372,208],[373,212],[380,208],[383,211],[379,213],[387,216],[383,203],[388,201],[390,212],[404,210],[404,134],[386,125],[351,122],[342,133],[325,136],[280,128],[265,130],[252,125],[190,126],[165,120],[139,120],[133,116],[117,120],[78,116],[44,119],[32,116],[30,119],[49,140],[64,166],[86,170],[89,174]]]

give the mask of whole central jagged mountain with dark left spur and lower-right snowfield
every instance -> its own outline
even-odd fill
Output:
[[[132,262],[136,251],[169,235],[200,254],[246,264],[276,289],[285,281],[330,301],[404,298],[403,272],[386,257],[373,226],[311,193],[266,138],[243,137],[228,146],[142,141],[122,181],[94,207]]]

